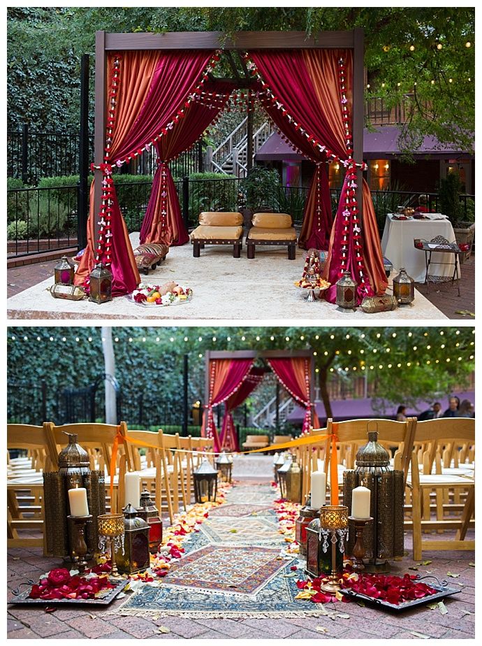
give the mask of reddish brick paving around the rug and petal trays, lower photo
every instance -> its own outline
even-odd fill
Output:
[[[246,469],[246,471],[249,471]],[[246,473],[249,478],[249,473]],[[245,480],[244,484],[253,482]],[[266,482],[266,481],[264,481]],[[473,538],[473,532],[471,536]],[[411,559],[411,536],[406,535],[407,556],[402,571],[414,567]],[[475,570],[470,566],[474,552],[424,552],[423,559],[432,561],[418,565],[418,573],[430,573],[440,580],[448,579],[461,592],[445,601],[446,615],[425,606],[418,610],[391,615],[356,603],[337,603],[339,612],[349,619],[336,621],[329,617],[298,617],[295,619],[187,619],[184,617],[122,617],[105,616],[105,608],[59,608],[48,614],[43,608],[8,606],[7,631],[10,639],[418,639],[414,633],[439,639],[473,639],[475,635]],[[41,548],[8,550],[8,590],[28,579],[59,567],[57,559],[42,556]],[[458,577],[448,577],[451,572]],[[9,595],[10,596],[10,595]],[[125,601],[125,600],[124,600]],[[114,601],[109,612],[119,608],[123,600]],[[300,608],[311,608],[300,605]],[[161,632],[163,626],[169,633]],[[326,633],[316,629],[322,626]]]

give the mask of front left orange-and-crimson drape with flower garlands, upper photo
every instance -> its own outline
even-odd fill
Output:
[[[103,173],[101,212],[94,213],[91,199],[87,225],[89,244],[76,274],[76,284],[88,285],[88,275],[98,261],[111,268],[115,296],[132,292],[140,282],[117,202],[112,168],[141,155],[175,129],[191,106],[190,94],[208,79],[207,71],[215,63],[213,54],[166,50],[127,51],[122,56],[118,53],[108,56],[104,163],[95,166]],[[100,218],[97,239],[95,217]],[[179,231],[180,224],[169,223],[168,229]]]

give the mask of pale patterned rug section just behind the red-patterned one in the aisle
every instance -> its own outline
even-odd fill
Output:
[[[282,545],[275,518],[217,517],[203,522],[201,531],[211,543],[223,545]]]

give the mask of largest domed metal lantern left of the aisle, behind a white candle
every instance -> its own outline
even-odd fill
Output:
[[[77,435],[66,433],[68,444],[59,453],[59,471],[43,474],[45,504],[45,554],[69,560],[73,527],[68,524],[71,513],[68,490],[84,487],[92,522],[87,523],[85,543],[87,560],[97,550],[97,517],[105,514],[105,480],[101,471],[91,471],[89,454],[77,443]]]

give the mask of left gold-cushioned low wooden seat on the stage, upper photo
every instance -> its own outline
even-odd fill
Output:
[[[204,211],[199,226],[191,232],[193,257],[200,256],[205,245],[233,245],[233,258],[241,257],[242,215],[235,211]]]

